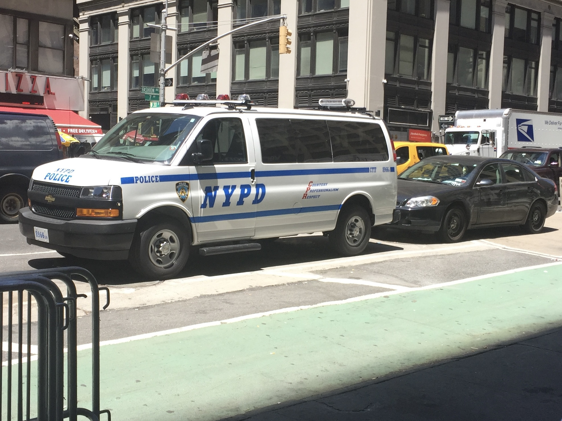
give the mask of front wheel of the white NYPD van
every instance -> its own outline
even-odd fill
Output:
[[[189,230],[174,219],[140,226],[129,251],[129,263],[144,277],[169,279],[187,263],[190,247]]]

